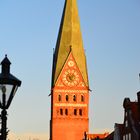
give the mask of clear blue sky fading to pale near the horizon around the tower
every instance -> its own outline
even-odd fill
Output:
[[[123,122],[140,90],[140,1],[77,0],[90,88],[90,132]],[[0,59],[22,80],[8,110],[15,133],[49,133],[50,81],[64,0],[0,1]]]

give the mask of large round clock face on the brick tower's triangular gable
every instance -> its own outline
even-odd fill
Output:
[[[63,74],[62,81],[66,86],[76,86],[79,83],[79,74],[76,70],[66,70]]]

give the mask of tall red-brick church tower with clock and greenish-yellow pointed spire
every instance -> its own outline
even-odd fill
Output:
[[[89,127],[89,84],[76,0],[65,0],[51,88],[50,140],[83,140]]]

